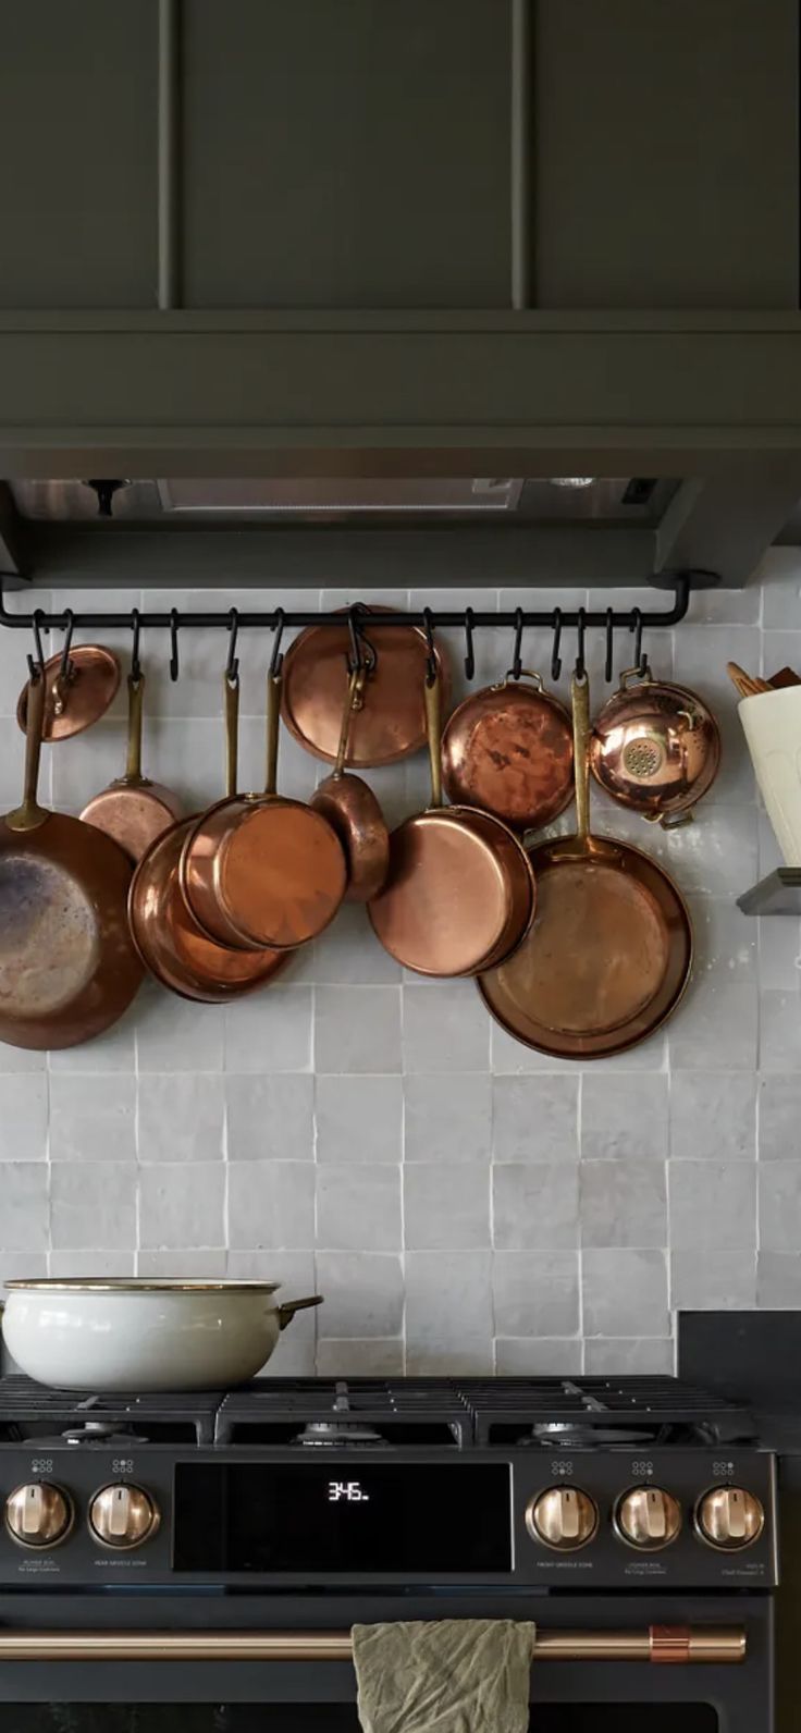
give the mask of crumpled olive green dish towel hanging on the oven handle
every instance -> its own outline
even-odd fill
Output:
[[[527,1733],[534,1624],[416,1619],[352,1634],[362,1733]]]

